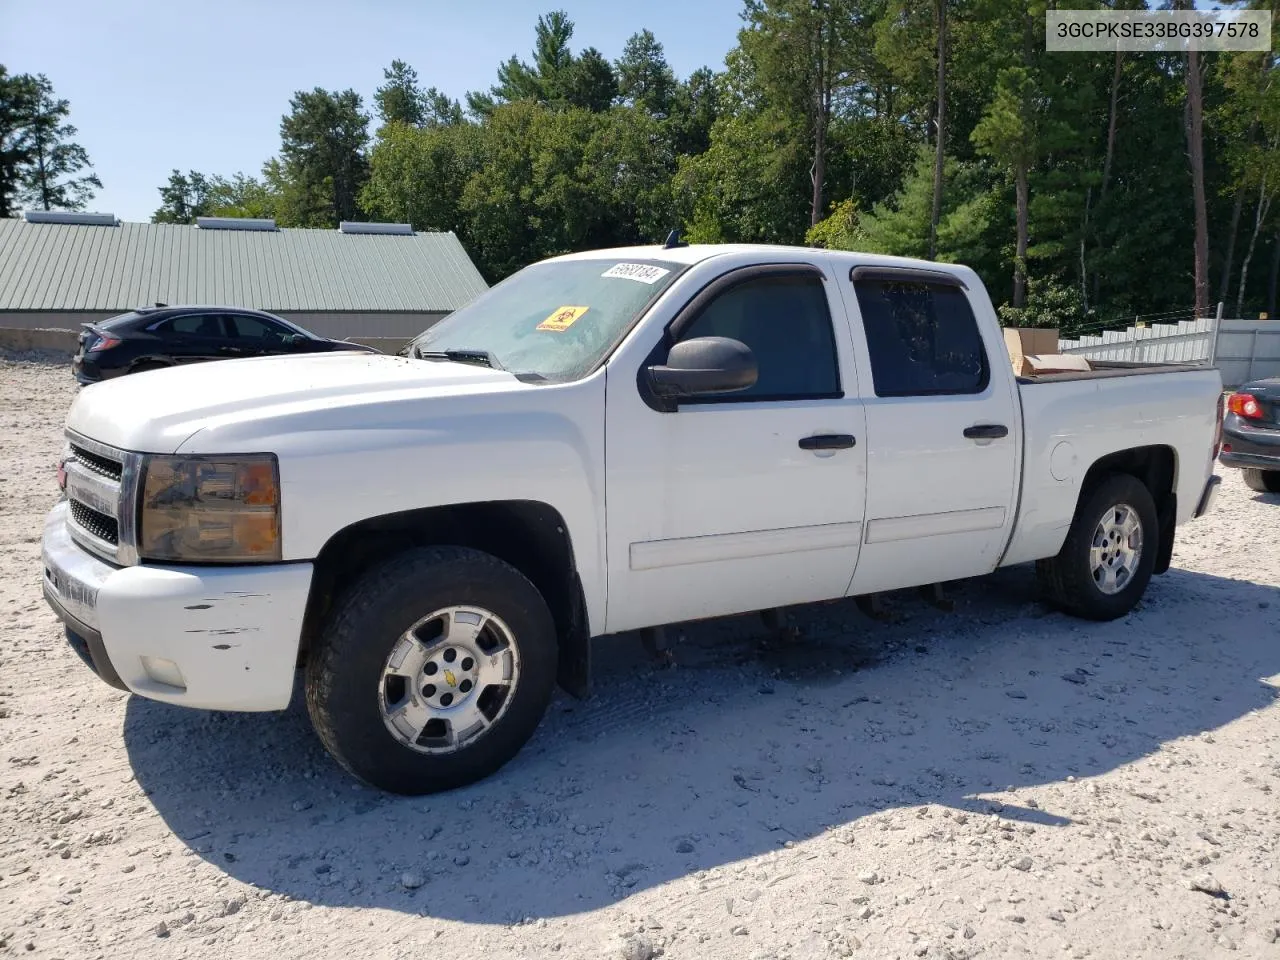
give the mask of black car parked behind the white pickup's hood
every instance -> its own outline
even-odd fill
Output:
[[[72,372],[88,384],[178,364],[337,349],[379,352],[317,337],[261,310],[141,307],[99,324],[84,324]]]

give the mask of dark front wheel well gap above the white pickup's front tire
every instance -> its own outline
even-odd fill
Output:
[[[559,512],[536,500],[428,507],[370,517],[339,530],[315,559],[300,662],[352,580],[397,553],[415,547],[445,545],[484,550],[529,577],[556,621],[561,648],[559,684],[575,695],[588,695],[589,630],[572,544]]]

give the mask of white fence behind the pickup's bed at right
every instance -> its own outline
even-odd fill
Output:
[[[1059,340],[1059,351],[1133,364],[1208,364],[1225,387],[1280,376],[1280,321],[1180,320]]]

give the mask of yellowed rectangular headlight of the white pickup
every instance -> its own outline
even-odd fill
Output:
[[[180,563],[280,559],[280,468],[270,453],[147,457],[138,554]]]

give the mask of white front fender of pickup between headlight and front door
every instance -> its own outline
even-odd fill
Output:
[[[380,397],[211,425],[183,453],[271,452],[285,561],[370,517],[538,500],[564,518],[591,623],[604,622],[604,378],[518,393]]]

